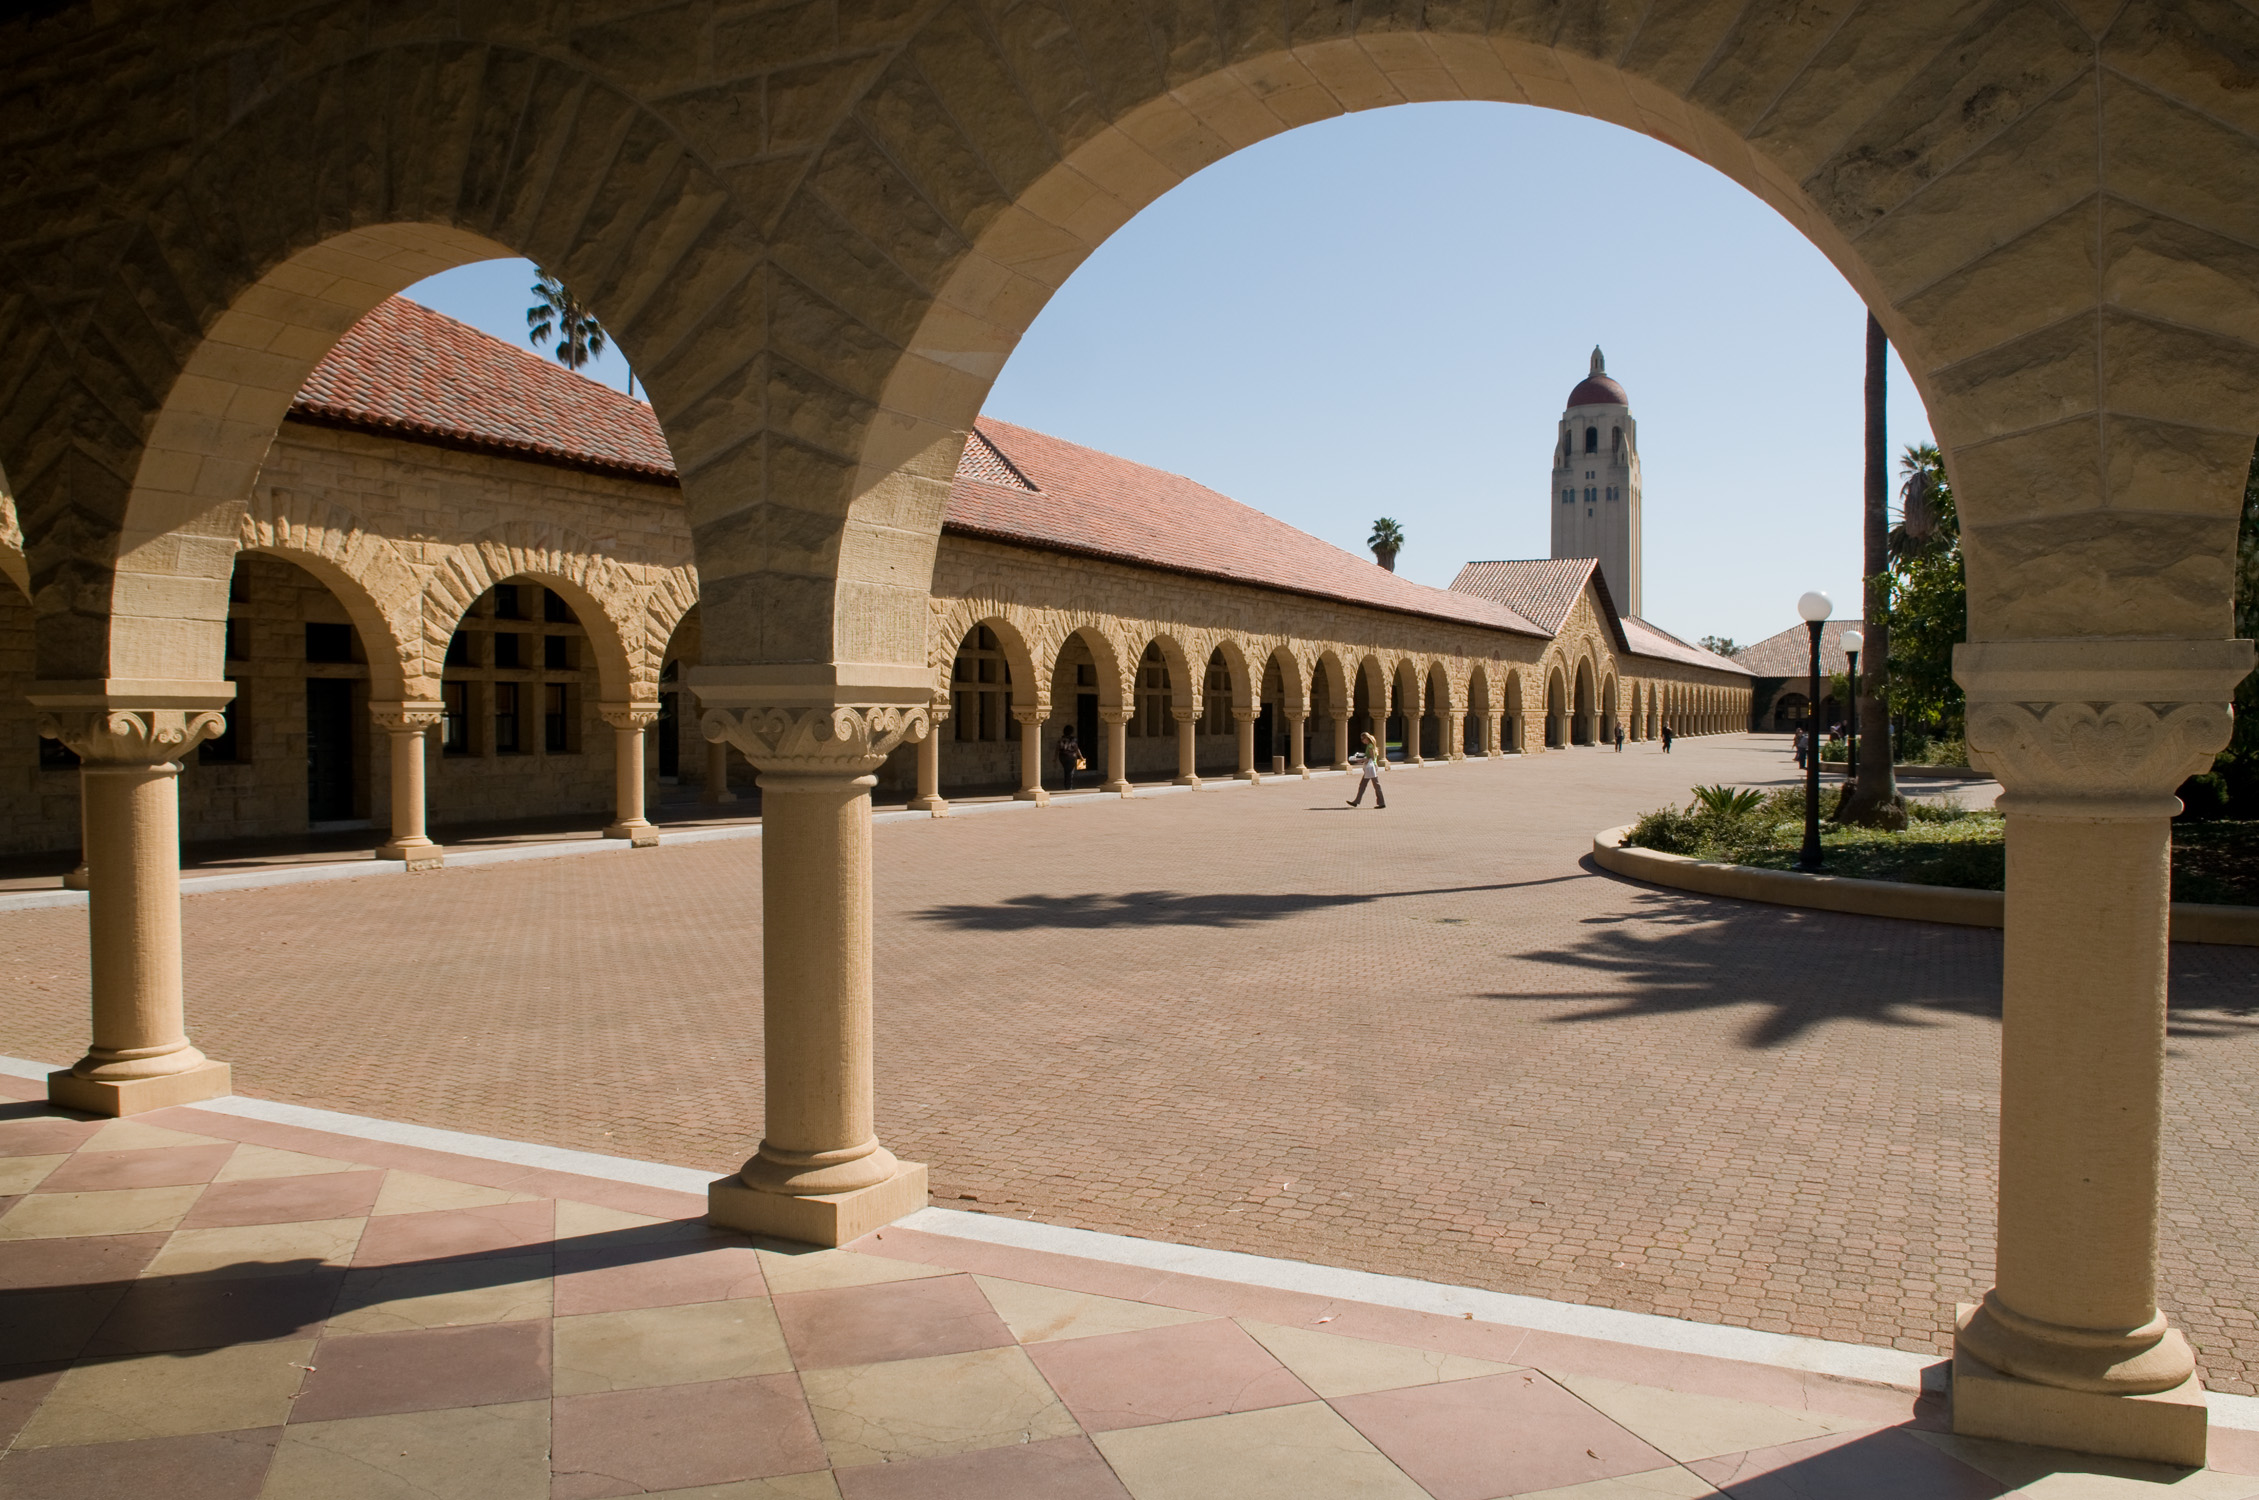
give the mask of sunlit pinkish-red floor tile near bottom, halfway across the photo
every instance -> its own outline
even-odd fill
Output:
[[[1227,1319],[1028,1344],[1028,1358],[1091,1432],[1317,1401]]]

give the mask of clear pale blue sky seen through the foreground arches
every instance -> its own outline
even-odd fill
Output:
[[[524,262],[411,289],[524,337]],[[1753,642],[1859,608],[1866,314],[1771,208],[1631,131],[1416,104],[1288,131],[1152,203],[1035,321],[987,411],[1152,463],[1448,585],[1543,558],[1593,346],[1631,393],[1645,612]],[[590,373],[623,384],[610,350]],[[1891,452],[1929,438],[1891,361]],[[1895,463],[1893,463],[1895,486]]]

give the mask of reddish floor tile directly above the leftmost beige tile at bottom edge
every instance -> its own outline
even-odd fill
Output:
[[[547,1398],[547,1322],[339,1333],[314,1346],[291,1421]]]

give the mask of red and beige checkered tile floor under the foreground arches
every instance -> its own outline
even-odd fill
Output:
[[[2259,1495],[2259,1446],[2221,1457],[2245,1475],[2078,1462],[1886,1387],[698,1211],[212,1111],[0,1105],[0,1495]]]

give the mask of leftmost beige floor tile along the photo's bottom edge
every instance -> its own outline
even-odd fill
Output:
[[[294,1425],[260,1500],[549,1500],[549,1403]]]

